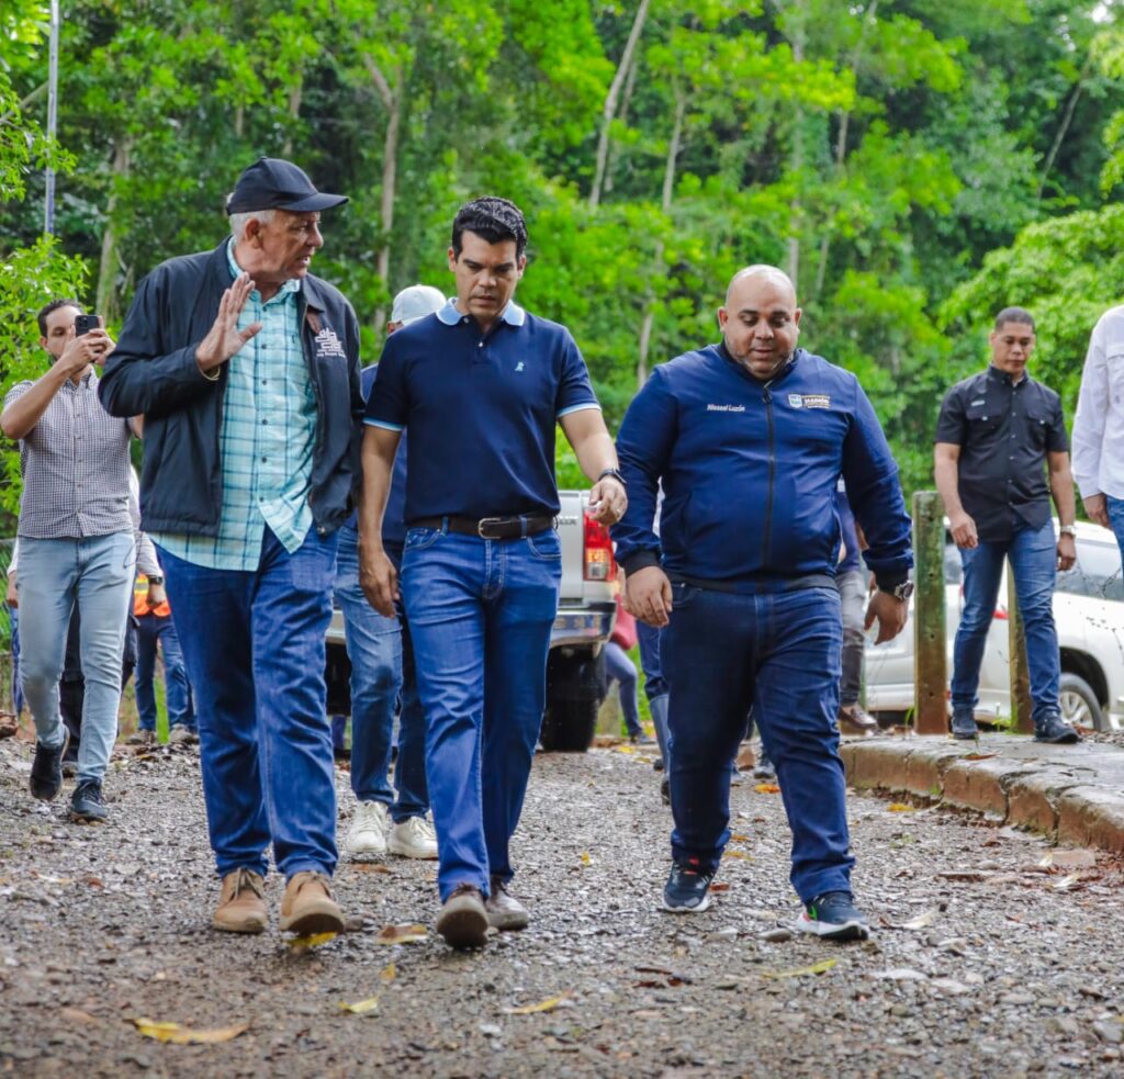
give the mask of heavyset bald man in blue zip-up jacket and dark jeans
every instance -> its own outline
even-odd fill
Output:
[[[673,867],[664,908],[704,910],[729,840],[731,762],[753,715],[792,829],[799,927],[861,940],[839,755],[839,478],[878,582],[867,625],[901,632],[913,564],[898,470],[854,375],[797,348],[773,266],[735,275],[723,339],[655,369],[617,438],[629,504],[613,529],[626,602],[667,626]],[[664,490],[658,537],[656,486]]]

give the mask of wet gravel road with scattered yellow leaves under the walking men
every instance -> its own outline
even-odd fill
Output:
[[[332,941],[215,934],[193,751],[123,755],[111,822],[79,827],[26,794],[29,746],[0,742],[0,1072],[1124,1073],[1120,861],[852,795],[876,937],[791,937],[780,797],[746,776],[716,904],[662,914],[669,813],[627,749],[536,760],[513,888],[532,927],[454,954],[433,863],[398,859],[342,864],[354,931]],[[410,923],[424,940],[380,939]],[[165,1044],[143,1019],[228,1040]]]

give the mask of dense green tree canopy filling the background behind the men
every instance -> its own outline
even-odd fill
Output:
[[[212,246],[260,154],[351,196],[317,272],[374,360],[390,297],[451,287],[457,206],[514,199],[519,287],[581,345],[610,425],[651,368],[717,336],[750,262],[783,266],[804,344],[854,371],[907,489],[943,391],[1008,303],[1069,411],[1124,283],[1124,35],[1097,0],[63,0],[58,140],[45,0],[0,12],[0,364],[35,309],[119,325],[162,260]],[[43,167],[57,237],[39,238]],[[11,474],[11,453],[8,455]],[[6,507],[13,508],[13,488]]]

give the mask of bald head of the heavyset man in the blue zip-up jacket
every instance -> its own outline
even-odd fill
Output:
[[[768,382],[791,359],[800,309],[788,274],[776,266],[746,266],[734,274],[718,325],[729,355],[753,378]]]

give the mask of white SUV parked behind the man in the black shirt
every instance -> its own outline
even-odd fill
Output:
[[[950,680],[952,645],[964,601],[962,577],[960,552],[945,534],[944,611]],[[1061,650],[1062,718],[1098,731],[1124,729],[1124,579],[1120,548],[1111,532],[1097,525],[1077,526],[1077,564],[1058,574],[1053,611]],[[886,718],[894,713],[907,713],[914,706],[913,600],[909,619],[894,641],[867,646],[867,709]],[[978,719],[1009,718],[1009,660],[1005,570],[980,667]]]

